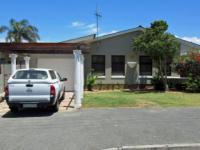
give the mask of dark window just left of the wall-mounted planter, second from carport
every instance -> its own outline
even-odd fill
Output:
[[[112,56],[112,75],[125,75],[125,56]]]

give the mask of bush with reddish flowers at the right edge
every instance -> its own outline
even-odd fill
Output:
[[[192,51],[182,56],[176,65],[177,72],[187,77],[186,89],[190,92],[200,91],[200,52]]]

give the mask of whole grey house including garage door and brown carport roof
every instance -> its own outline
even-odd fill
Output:
[[[89,73],[98,76],[101,86],[121,85],[134,87],[138,84],[150,84],[155,73],[154,63],[149,56],[137,54],[132,49],[132,40],[144,28],[137,28],[96,37],[95,34],[63,41],[60,43],[0,43],[0,87],[1,91],[11,74],[10,54],[15,58],[17,68],[24,68],[29,62],[30,68],[50,68],[68,78],[66,90],[74,90],[75,61],[73,50],[80,49],[84,55],[84,77]],[[181,43],[180,55],[191,49],[200,49],[200,45],[178,39]],[[168,78],[179,79],[168,65]]]

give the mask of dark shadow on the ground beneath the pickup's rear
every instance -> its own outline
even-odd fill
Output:
[[[48,109],[26,109],[21,110],[17,113],[12,113],[11,111],[8,111],[2,115],[2,118],[48,117],[52,116],[53,114],[54,112]]]

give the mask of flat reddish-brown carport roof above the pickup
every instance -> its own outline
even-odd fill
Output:
[[[87,45],[79,43],[0,43],[0,52],[6,53],[72,54],[76,49],[88,53]]]

